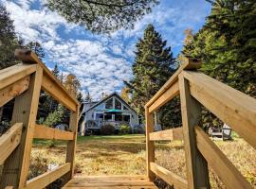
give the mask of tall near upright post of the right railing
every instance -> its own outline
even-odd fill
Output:
[[[178,79],[188,183],[190,189],[210,188],[208,164],[196,147],[194,135],[194,127],[201,119],[201,105],[190,94],[189,81],[182,73]]]

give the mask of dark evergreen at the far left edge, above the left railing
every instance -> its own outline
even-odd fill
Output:
[[[17,63],[14,51],[20,46],[9,12],[0,4],[0,69]]]

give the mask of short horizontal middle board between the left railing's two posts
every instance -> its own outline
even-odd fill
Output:
[[[74,140],[74,132],[65,131],[61,129],[53,129],[42,125],[36,125],[34,131],[34,138],[37,139],[54,139],[54,140]]]

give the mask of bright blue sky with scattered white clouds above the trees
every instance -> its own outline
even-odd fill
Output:
[[[135,45],[148,24],[155,26],[176,56],[182,48],[184,30],[192,28],[196,32],[210,13],[205,0],[161,0],[133,29],[119,29],[109,36],[67,23],[46,9],[46,0],[0,1],[9,10],[18,36],[26,43],[37,41],[43,45],[46,65],[52,69],[57,63],[64,74],[79,77],[82,92],[89,91],[94,98],[119,92],[123,80],[132,77]]]

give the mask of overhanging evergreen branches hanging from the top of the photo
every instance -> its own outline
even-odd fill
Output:
[[[86,26],[92,32],[111,32],[130,28],[151,11],[158,0],[48,0],[46,6],[68,22]]]

